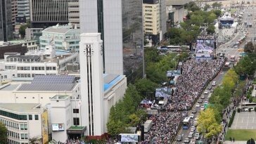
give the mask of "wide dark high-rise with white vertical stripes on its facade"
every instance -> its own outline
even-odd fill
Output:
[[[30,0],[30,22],[34,28],[68,24],[68,0]]]

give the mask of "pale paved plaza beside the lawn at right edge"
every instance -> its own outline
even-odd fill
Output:
[[[256,129],[256,112],[236,112],[231,129]]]

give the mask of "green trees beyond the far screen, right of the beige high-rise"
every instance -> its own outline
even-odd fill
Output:
[[[194,1],[185,6],[189,13],[186,20],[180,23],[180,28],[172,27],[167,32],[169,44],[188,45],[200,35],[200,28],[205,27],[207,34],[215,33],[214,21],[222,14],[220,10],[202,11]],[[210,7],[209,7],[210,8]]]

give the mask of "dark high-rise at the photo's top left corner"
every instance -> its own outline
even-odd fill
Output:
[[[0,41],[13,38],[11,0],[2,0],[0,4]]]

